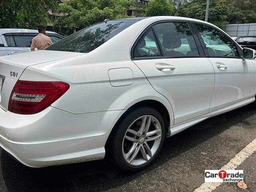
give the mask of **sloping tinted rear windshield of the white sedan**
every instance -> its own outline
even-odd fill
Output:
[[[46,50],[88,53],[138,20],[110,20],[84,28],[52,44]]]

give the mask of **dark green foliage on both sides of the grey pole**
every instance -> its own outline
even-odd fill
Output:
[[[178,10],[179,16],[204,20],[206,0],[192,0]],[[208,22],[223,26],[256,22],[255,0],[210,0]]]

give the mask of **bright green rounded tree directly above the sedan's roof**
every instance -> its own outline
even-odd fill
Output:
[[[170,16],[173,14],[174,7],[167,0],[151,0],[146,7],[146,16]]]

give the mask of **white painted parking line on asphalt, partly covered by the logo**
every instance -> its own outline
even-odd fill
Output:
[[[232,158],[226,165],[224,165],[221,170],[235,170],[244,160],[246,160],[251,154],[256,151],[256,138],[250,142],[245,148],[243,148],[234,158]],[[194,192],[212,192],[222,182],[219,183],[203,183]]]

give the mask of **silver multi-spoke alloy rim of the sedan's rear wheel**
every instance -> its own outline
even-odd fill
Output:
[[[126,163],[131,166],[146,164],[160,147],[161,137],[161,125],[154,116],[144,115],[134,120],[122,141],[122,155]]]

